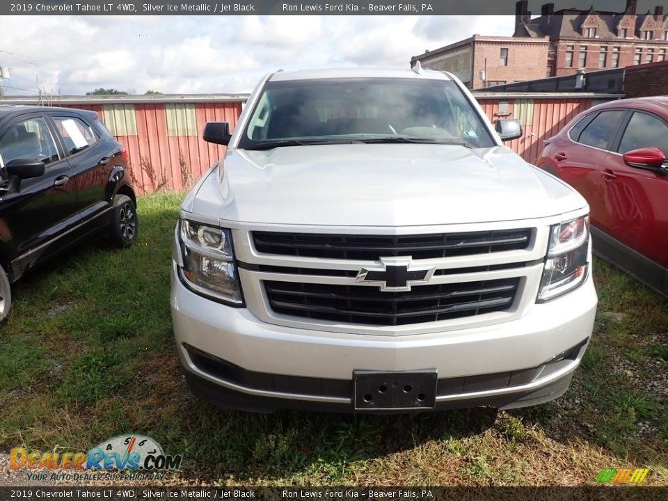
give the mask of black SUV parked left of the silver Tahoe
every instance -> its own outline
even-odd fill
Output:
[[[127,152],[94,111],[0,106],[0,322],[10,283],[95,232],[137,237]]]

